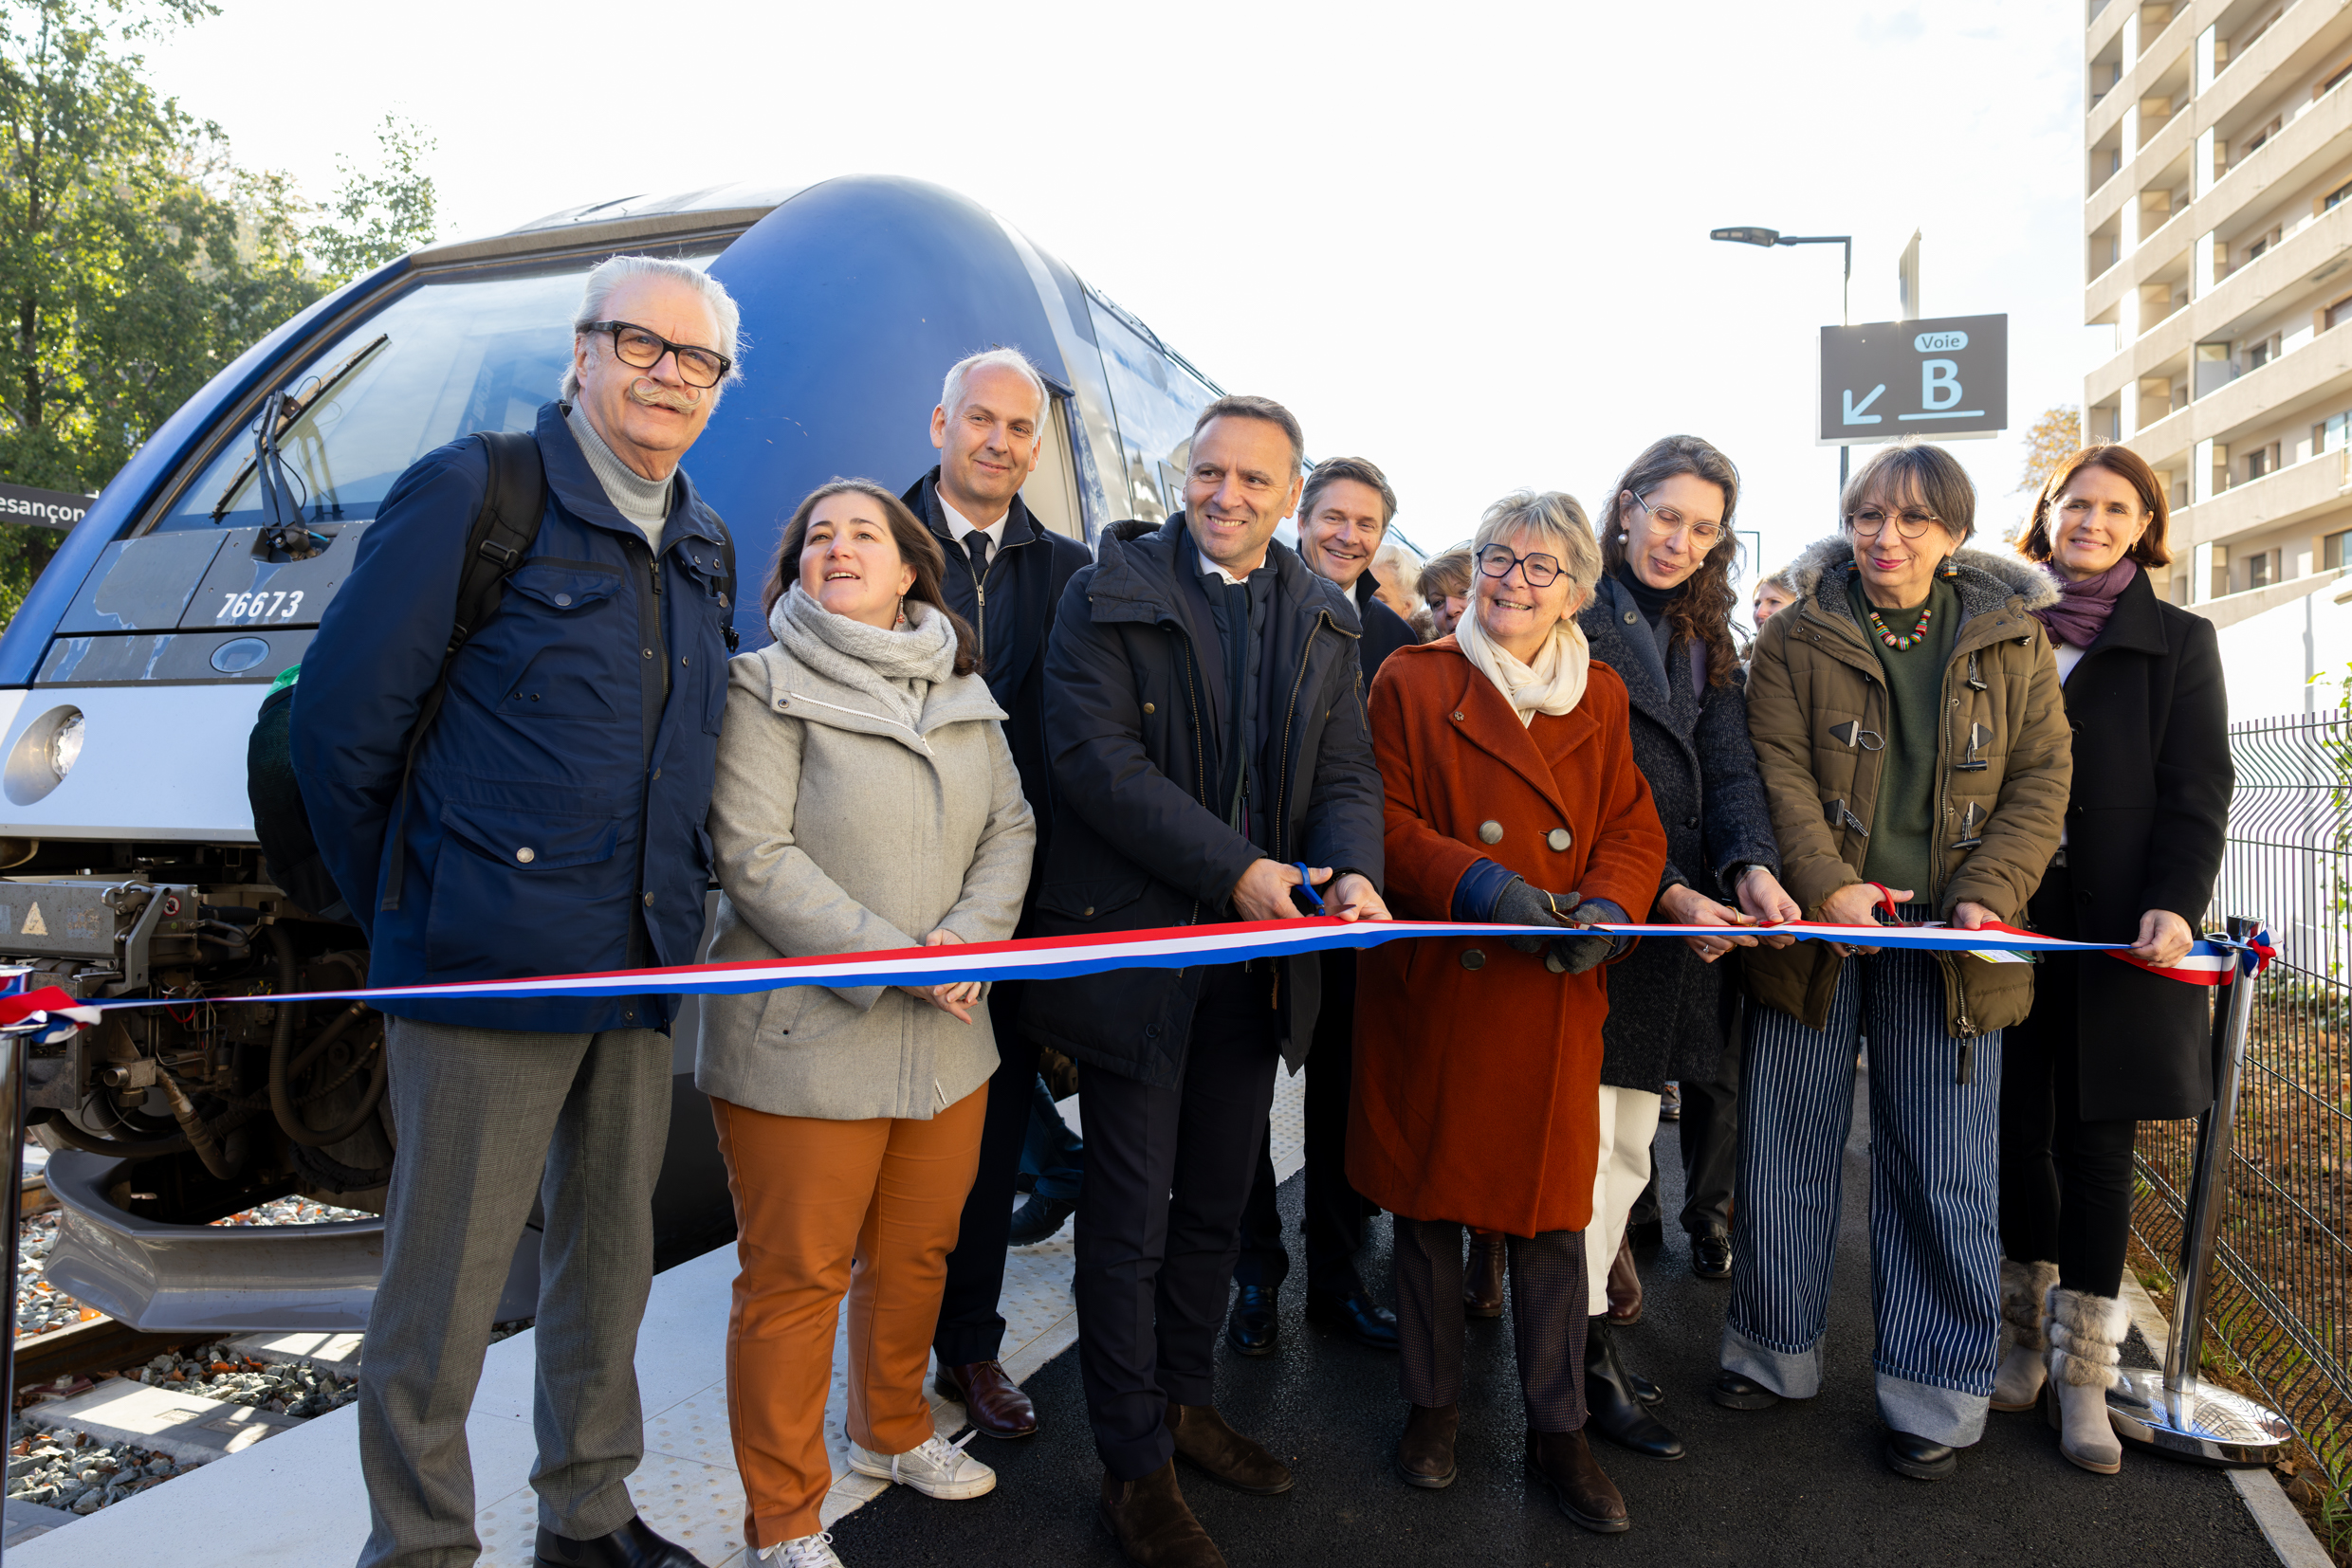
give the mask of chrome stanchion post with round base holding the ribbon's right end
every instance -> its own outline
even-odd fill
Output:
[[[2204,1363],[2204,1314],[2213,1284],[2220,1213],[2230,1194],[2230,1143],[2237,1128],[2237,1091],[2246,1067],[2246,1032],[2253,1023],[2253,952],[2260,919],[2230,917],[2237,973],[2213,1009],[2213,1105],[2197,1119],[2197,1159],[2190,1206],[2180,1222],[2180,1272],[2173,1276],[2173,1324],[2164,1345],[2164,1368],[2119,1368],[2107,1389],[2107,1420],[2126,1443],[2197,1465],[2270,1465],[2296,1429],[2277,1410],[2232,1389],[2199,1380]]]

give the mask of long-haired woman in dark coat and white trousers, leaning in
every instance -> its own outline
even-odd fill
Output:
[[[1759,940],[1738,926],[1797,917],[1780,891],[1780,851],[1731,639],[1738,496],[1738,470],[1708,442],[1653,442],[1602,508],[1602,581],[1578,616],[1592,658],[1625,677],[1632,757],[1665,827],[1651,919],[1724,926],[1719,938],[1642,943],[1625,954],[1609,971],[1602,1025],[1602,1161],[1585,1232],[1585,1406],[1595,1432],[1665,1460],[1682,1458],[1682,1441],[1642,1406],[1609,1338],[1606,1274],[1625,1215],[1649,1182],[1658,1091],[1668,1079],[1712,1077],[1722,1056],[1724,976],[1715,959]]]

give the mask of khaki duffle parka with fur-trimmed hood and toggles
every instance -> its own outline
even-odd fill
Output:
[[[1959,628],[1943,672],[1936,745],[1933,886],[1917,889],[1940,919],[1973,900],[2016,924],[2042,884],[2074,778],[2051,642],[2027,611],[2058,590],[2020,559],[1959,550]],[[1884,771],[1886,672],[1853,618],[1846,578],[1853,541],[1823,538],[1790,567],[1797,604],[1764,623],[1748,668],[1748,733],[1757,745],[1780,839],[1780,882],[1820,919],[1830,893],[1863,879]],[[1823,1027],[1844,959],[1830,943],[1740,954],[1748,994]],[[1952,1037],[2023,1023],[2032,964],[1936,954]]]

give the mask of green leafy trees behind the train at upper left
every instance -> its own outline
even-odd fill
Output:
[[[136,45],[209,0],[0,0],[0,480],[94,494],[179,404],[346,277],[433,235],[433,141],[386,120],[327,221],[240,169]],[[318,254],[310,266],[306,247]],[[0,623],[54,555],[0,527]]]

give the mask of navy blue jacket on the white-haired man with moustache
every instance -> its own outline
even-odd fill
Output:
[[[452,442],[400,475],[294,689],[303,804],[367,931],[372,985],[691,964],[703,933],[703,818],[727,705],[724,529],[680,475],[656,562],[604,498],[560,404],[539,411],[536,435],[548,468],[539,541],[449,665],[405,844],[388,842],[390,811],[489,484],[480,442]],[[393,853],[407,853],[400,907],[379,910]],[[383,1011],[492,1030],[614,1030],[668,1027],[677,999]]]

